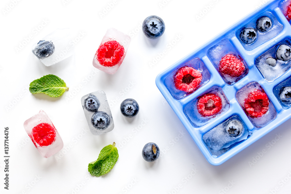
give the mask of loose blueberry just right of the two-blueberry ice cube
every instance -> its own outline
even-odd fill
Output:
[[[120,111],[126,117],[134,117],[139,112],[139,104],[132,98],[125,99],[120,104]]]

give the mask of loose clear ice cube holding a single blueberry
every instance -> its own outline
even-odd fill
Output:
[[[57,29],[32,46],[33,54],[45,66],[54,65],[73,54],[70,29]]]

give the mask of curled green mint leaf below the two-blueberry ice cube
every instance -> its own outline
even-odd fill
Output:
[[[109,172],[115,165],[118,159],[117,147],[115,142],[112,145],[107,145],[101,150],[98,159],[88,164],[88,171],[92,176],[99,177]]]

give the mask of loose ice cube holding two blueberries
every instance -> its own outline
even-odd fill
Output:
[[[114,123],[104,91],[99,90],[83,96],[81,103],[93,135],[102,135],[112,131]]]

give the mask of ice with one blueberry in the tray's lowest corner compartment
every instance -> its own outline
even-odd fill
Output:
[[[234,115],[206,132],[202,139],[216,158],[246,140],[251,134],[242,119]]]

